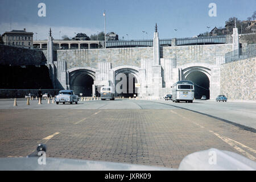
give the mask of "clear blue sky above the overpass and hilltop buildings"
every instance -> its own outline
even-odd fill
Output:
[[[46,17],[38,16],[41,2],[46,3]],[[216,17],[208,15],[208,5],[212,2],[217,5]],[[209,29],[225,26],[225,20],[233,16],[246,20],[256,11],[256,0],[0,0],[0,3],[0,34],[26,28],[38,32],[38,39],[47,39],[49,27],[55,39],[63,35],[73,37],[75,32],[90,36],[104,31],[104,10],[106,31],[116,32],[119,39],[152,39],[155,23],[160,39],[192,37],[208,31],[207,26]]]

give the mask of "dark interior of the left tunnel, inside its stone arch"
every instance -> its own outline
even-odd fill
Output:
[[[84,97],[92,96],[93,78],[86,72],[80,72],[74,77],[71,82],[71,89],[74,90],[75,94],[79,96],[82,93]]]

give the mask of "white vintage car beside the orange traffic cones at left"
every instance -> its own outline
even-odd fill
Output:
[[[55,98],[56,104],[59,104],[59,102],[62,102],[65,104],[65,102],[69,102],[70,104],[73,104],[75,102],[79,101],[79,97],[74,93],[73,90],[60,90],[59,94]]]

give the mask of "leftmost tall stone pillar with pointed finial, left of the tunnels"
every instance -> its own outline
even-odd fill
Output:
[[[52,80],[52,86],[55,88],[55,66],[53,64],[53,40],[52,40],[52,30],[50,28],[48,42],[47,42],[47,65],[49,68],[49,75]]]

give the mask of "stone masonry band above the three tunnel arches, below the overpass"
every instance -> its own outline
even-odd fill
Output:
[[[214,44],[201,46],[163,47],[163,58],[174,59],[177,66],[187,63],[216,64],[217,56],[224,56],[232,51],[232,44]],[[47,55],[47,51],[43,51]],[[88,66],[97,68],[99,62],[112,63],[112,67],[134,65],[141,67],[141,59],[152,59],[152,47],[107,48],[107,49],[76,49],[58,50],[57,61],[67,61],[67,68]]]

